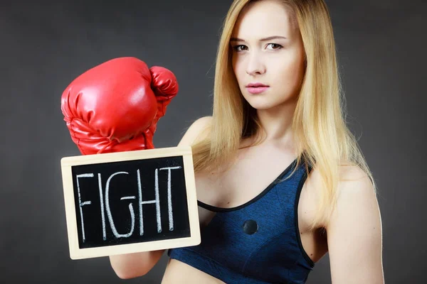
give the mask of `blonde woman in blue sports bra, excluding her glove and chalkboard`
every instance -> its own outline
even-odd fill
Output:
[[[213,116],[194,151],[201,244],[171,249],[162,283],[384,283],[376,187],[342,111],[322,0],[235,0],[218,49]],[[110,256],[120,278],[164,251]]]

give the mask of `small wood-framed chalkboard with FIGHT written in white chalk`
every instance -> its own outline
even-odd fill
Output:
[[[200,244],[191,147],[61,159],[70,258]]]

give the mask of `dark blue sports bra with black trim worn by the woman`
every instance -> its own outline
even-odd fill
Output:
[[[220,208],[201,229],[201,244],[169,249],[168,255],[225,283],[305,283],[315,263],[302,248],[297,205],[307,178],[295,159],[257,197],[238,207]],[[311,170],[308,168],[309,171]]]

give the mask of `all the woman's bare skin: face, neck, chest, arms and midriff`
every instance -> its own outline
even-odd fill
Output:
[[[263,40],[272,36],[274,38]],[[304,73],[303,45],[291,15],[278,1],[256,1],[242,11],[230,42],[233,70],[243,97],[257,110],[265,129],[258,146],[238,151],[236,163],[225,173],[197,173],[197,197],[216,207],[236,207],[260,194],[296,158],[290,127],[297,93]],[[262,94],[251,94],[246,84],[270,86]],[[194,122],[179,146],[189,145],[209,124],[206,116]],[[242,141],[246,146],[251,141]],[[254,167],[253,165],[257,165]],[[327,224],[310,230],[319,199],[320,175],[314,168],[302,187],[298,225],[302,247],[317,262],[329,251],[332,283],[384,283],[381,217],[371,182],[359,168],[342,167],[337,210]],[[214,212],[199,207],[201,226]],[[325,234],[326,230],[326,234]],[[110,257],[121,278],[147,273],[164,251]],[[128,269],[130,266],[132,269]],[[163,284],[223,283],[186,263],[170,259]]]

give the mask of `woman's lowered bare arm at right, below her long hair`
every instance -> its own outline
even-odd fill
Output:
[[[384,283],[382,229],[372,184],[352,167],[339,183],[337,210],[327,226],[332,283]]]

